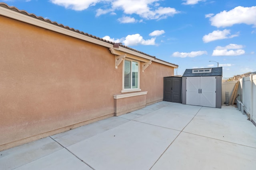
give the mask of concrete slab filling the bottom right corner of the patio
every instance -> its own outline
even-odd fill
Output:
[[[151,170],[255,170],[256,148],[182,132]]]

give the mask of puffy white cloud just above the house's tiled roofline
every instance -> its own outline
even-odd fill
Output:
[[[127,35],[125,38],[121,38],[121,39],[113,39],[113,38],[110,38],[110,36],[106,35],[102,39],[106,39],[107,41],[112,41],[114,43],[123,43],[123,45],[126,45],[126,46],[156,45],[156,43],[155,43],[156,38],[151,38],[151,39],[145,40],[138,33],[133,34],[133,35]]]

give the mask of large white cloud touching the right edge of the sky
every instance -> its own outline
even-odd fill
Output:
[[[230,11],[222,11],[210,17],[211,25],[216,27],[230,27],[234,24],[245,23],[256,27],[256,6],[237,6]]]

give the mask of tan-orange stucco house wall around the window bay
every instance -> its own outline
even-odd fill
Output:
[[[115,68],[108,48],[3,16],[0,23],[0,150],[114,115],[122,63]],[[141,70],[146,103],[163,98],[163,77],[172,75],[158,63]]]

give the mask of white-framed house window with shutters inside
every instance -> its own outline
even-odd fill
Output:
[[[122,92],[140,91],[139,88],[139,62],[125,59]]]

